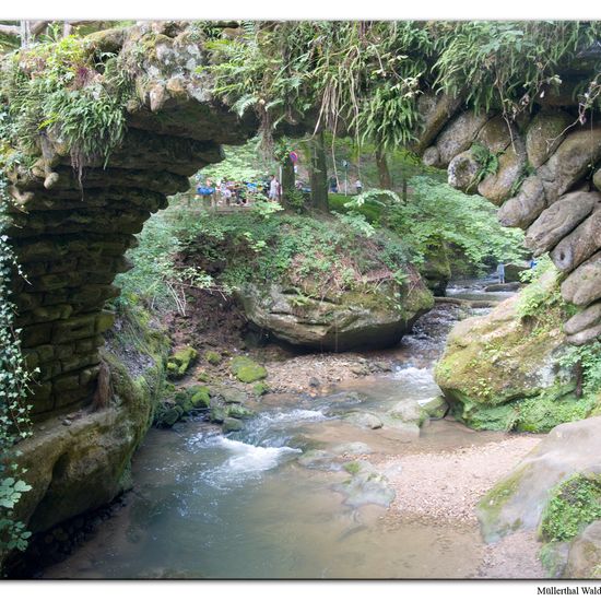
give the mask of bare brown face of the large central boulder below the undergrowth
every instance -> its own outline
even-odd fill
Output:
[[[346,291],[331,298],[299,294],[279,283],[247,284],[237,297],[258,328],[296,346],[327,351],[391,346],[434,305],[421,280],[411,287],[385,282],[368,292]]]

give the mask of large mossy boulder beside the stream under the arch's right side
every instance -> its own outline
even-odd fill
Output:
[[[593,401],[574,393],[564,311],[550,271],[490,315],[458,323],[435,369],[452,414],[476,429],[526,432],[586,417]]]

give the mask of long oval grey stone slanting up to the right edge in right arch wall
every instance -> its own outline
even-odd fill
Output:
[[[545,209],[528,228],[525,246],[538,257],[551,250],[601,203],[598,192],[571,192]]]

